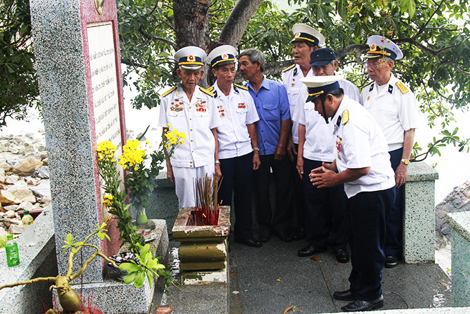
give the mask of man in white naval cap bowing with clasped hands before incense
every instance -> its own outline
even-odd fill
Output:
[[[370,311],[384,304],[385,223],[395,198],[395,176],[379,125],[359,102],[344,95],[338,80],[337,75],[302,80],[308,86],[308,101],[335,126],[335,160],[309,176],[319,189],[344,184],[353,269],[348,290],[336,291],[333,297],[351,301],[341,307],[343,311]]]

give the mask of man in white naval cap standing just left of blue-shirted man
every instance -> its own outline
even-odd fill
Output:
[[[236,48],[225,45],[207,56],[217,78],[207,90],[214,93],[222,122],[216,128],[223,176],[218,198],[222,205],[232,205],[234,191],[235,242],[259,248],[262,244],[253,237],[252,220],[252,176],[260,165],[254,122],[259,116],[247,87],[234,84],[236,55]]]

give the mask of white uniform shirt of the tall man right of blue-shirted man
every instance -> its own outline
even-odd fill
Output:
[[[315,76],[312,68],[308,70],[307,76]],[[299,98],[299,92],[302,86],[305,86],[300,79],[303,78],[303,72],[299,64],[294,64],[292,68],[286,69],[282,73],[282,84],[285,86],[285,90],[288,92],[290,116],[294,114],[294,109],[297,104],[297,98]],[[292,140],[295,144],[299,144],[299,123],[292,122]]]

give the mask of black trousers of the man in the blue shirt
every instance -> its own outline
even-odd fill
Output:
[[[275,160],[274,154],[261,155],[261,166],[253,172],[254,204],[259,228],[283,232],[292,221],[292,165],[288,157]],[[276,188],[276,206],[272,212],[270,203],[270,169]]]

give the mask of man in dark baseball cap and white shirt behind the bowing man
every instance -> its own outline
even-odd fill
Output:
[[[338,68],[336,55],[330,48],[319,48],[310,54],[310,66],[315,76],[335,75]],[[299,155],[297,160],[298,176],[303,181],[305,197],[305,224],[308,246],[299,250],[301,257],[311,256],[330,246],[335,251],[337,261],[347,263],[349,225],[346,195],[343,185],[318,189],[310,183],[308,175],[322,162],[335,160],[331,145],[333,125],[314,110],[313,102],[307,102],[308,90],[305,84],[297,99],[292,120],[299,124]],[[359,101],[359,89],[348,80],[339,80],[344,94]]]

